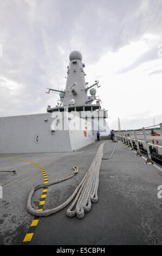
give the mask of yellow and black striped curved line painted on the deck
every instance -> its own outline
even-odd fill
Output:
[[[29,160],[25,160],[25,159],[17,159],[17,158],[11,158],[11,157],[0,157],[0,159],[5,159],[5,160],[8,160],[8,159],[11,159],[11,160],[21,160],[21,161],[26,161],[26,162],[29,162],[29,163],[33,163],[35,164],[38,168],[41,169],[42,173],[43,173],[43,176],[44,176],[44,184],[48,183],[48,178],[47,178],[47,173],[46,173],[46,170],[43,169],[42,166],[40,166],[38,163],[35,163],[35,162],[32,162],[32,161],[29,161]],[[47,190],[48,190],[48,187],[44,187],[43,188],[43,192],[42,192],[42,196],[40,198],[40,204],[38,205],[38,209],[37,211],[42,211],[43,210],[43,206],[46,202],[46,196],[47,196]],[[31,222],[31,225],[29,227],[29,230],[28,230],[28,233],[25,235],[24,237],[24,240],[23,242],[27,243],[27,242],[30,242],[33,235],[34,235],[34,231],[36,229],[36,226],[38,224],[38,221],[39,221],[39,218],[40,217],[35,217],[34,220]]]

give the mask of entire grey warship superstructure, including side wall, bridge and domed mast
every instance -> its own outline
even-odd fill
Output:
[[[59,106],[48,106],[47,113],[0,118],[0,153],[67,152],[93,143],[97,131],[109,135],[107,111],[96,97],[99,81],[88,87],[79,51],[72,51],[69,61],[65,90],[48,88],[48,93],[60,94]]]

